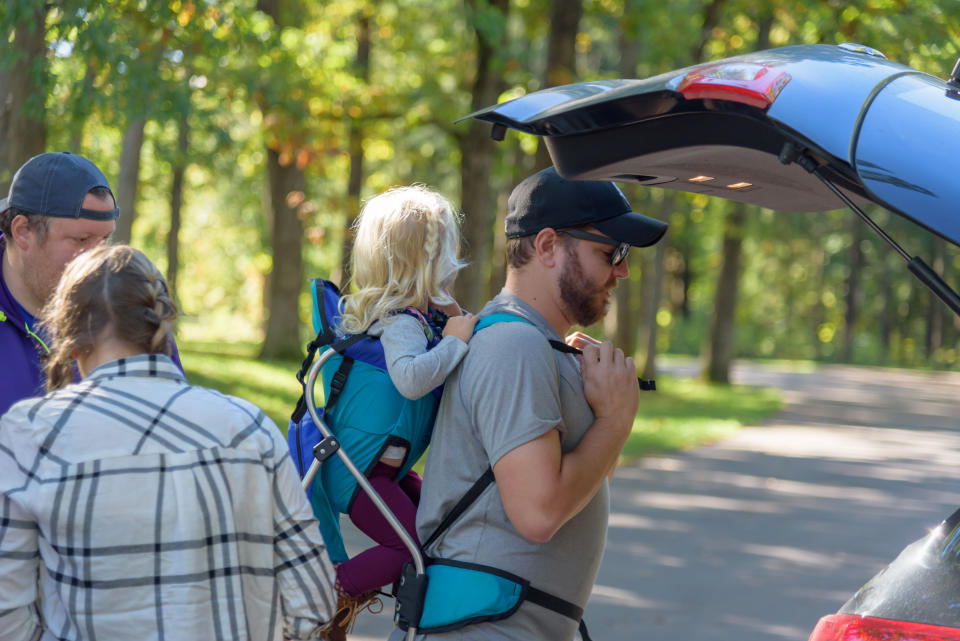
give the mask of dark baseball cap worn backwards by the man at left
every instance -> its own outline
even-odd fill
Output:
[[[0,200],[0,213],[19,209],[56,218],[116,219],[120,215],[116,198],[112,210],[83,208],[83,199],[97,187],[113,196],[103,172],[92,162],[69,151],[51,151],[34,156],[17,170],[9,195]]]

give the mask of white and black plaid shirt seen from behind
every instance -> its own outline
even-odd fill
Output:
[[[165,356],[0,418],[0,639],[314,638],[333,576],[276,425]]]

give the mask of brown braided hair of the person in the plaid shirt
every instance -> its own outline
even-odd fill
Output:
[[[76,354],[90,352],[105,330],[145,354],[170,355],[177,306],[150,259],[126,245],[104,245],[67,265],[40,313],[52,341],[47,389],[73,382]]]

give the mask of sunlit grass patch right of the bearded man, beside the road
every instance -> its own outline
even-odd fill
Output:
[[[623,457],[687,449],[755,425],[783,407],[774,388],[708,385],[693,378],[657,376],[657,391],[640,392],[640,409]]]

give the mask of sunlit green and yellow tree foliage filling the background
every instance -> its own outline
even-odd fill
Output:
[[[0,7],[8,44],[34,6],[11,0]],[[255,0],[68,0],[52,5],[42,25],[49,65],[38,86],[47,94],[34,98],[46,101],[50,148],[84,153],[115,179],[126,123],[148,121],[133,242],[162,268],[172,168],[182,160],[178,123],[188,113],[178,292],[183,332],[198,339],[259,338],[263,284],[275,258],[262,208],[265,145],[305,171],[298,215],[306,230],[306,274],[329,277],[339,269],[353,206],[347,197],[351,127],[363,132],[361,200],[412,182],[456,200],[458,142],[466,125],[454,121],[471,108],[474,29],[504,36],[495,52],[506,87],[502,99],[543,86],[547,0],[512,0],[505,19],[489,0],[278,0],[279,21],[258,6]],[[714,6],[719,11],[711,14]],[[768,38],[771,46],[862,42],[943,77],[960,55],[955,9],[955,0],[584,0],[576,74],[584,80],[618,77],[628,46],[636,48],[633,75],[646,77],[692,64],[701,49],[716,58],[751,51]],[[369,21],[371,33],[367,75],[357,68],[361,20]],[[8,49],[0,72],[16,58],[15,47]],[[501,196],[501,212],[505,194],[530,171],[536,147],[536,139],[515,132],[498,146],[489,189]],[[655,189],[639,190],[633,199],[641,211],[659,202]],[[899,232],[909,251],[934,262],[940,250],[909,224],[882,211],[871,214]],[[738,355],[841,357],[851,215],[749,214]],[[703,347],[723,218],[722,202],[686,194],[675,201],[658,315],[662,350],[696,354]],[[956,365],[957,322],[938,315],[938,303],[882,241],[867,235],[861,248],[853,359]],[[954,248],[943,256],[943,271],[948,282],[960,280]],[[591,331],[603,333],[601,327]]]

